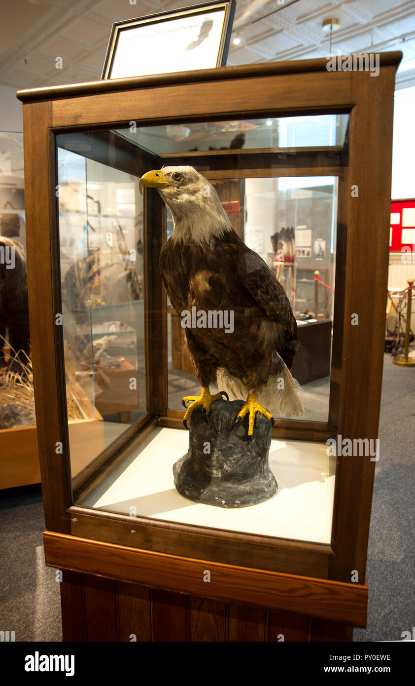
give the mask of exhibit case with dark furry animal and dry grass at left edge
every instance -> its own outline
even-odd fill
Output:
[[[40,481],[27,303],[23,132],[0,132],[0,488]]]

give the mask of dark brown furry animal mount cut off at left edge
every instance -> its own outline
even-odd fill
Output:
[[[12,371],[21,372],[19,359],[27,364],[26,355],[30,353],[26,253],[18,241],[0,236],[0,258],[0,335],[10,343],[15,353],[25,353],[17,354],[11,366]],[[0,338],[0,366],[5,366],[3,344]]]

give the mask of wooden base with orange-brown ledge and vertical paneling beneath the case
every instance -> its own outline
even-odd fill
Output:
[[[351,641],[366,624],[366,585],[54,532],[44,542],[63,570],[64,641]]]

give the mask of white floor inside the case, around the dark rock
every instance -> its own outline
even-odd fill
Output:
[[[137,516],[297,541],[330,543],[336,458],[325,443],[273,440],[269,464],[277,493],[259,505],[227,509],[177,493],[173,464],[188,451],[188,431],[158,427],[82,503]],[[135,508],[131,510],[131,508]]]

